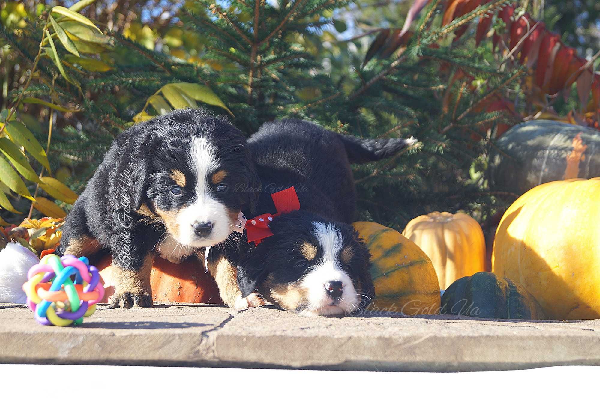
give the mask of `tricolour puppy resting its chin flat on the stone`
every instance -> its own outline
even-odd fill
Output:
[[[242,257],[242,295],[257,291],[301,316],[364,309],[374,288],[370,253],[348,224],[356,210],[350,164],[383,159],[414,143],[412,138],[359,140],[299,120],[263,125],[248,148],[262,181],[257,213],[273,219],[272,235]],[[277,211],[271,194],[290,186],[301,210],[268,216]]]

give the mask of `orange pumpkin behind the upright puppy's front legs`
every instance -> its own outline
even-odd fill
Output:
[[[107,255],[97,264],[106,289],[103,302],[109,302],[115,293],[110,262],[112,256]],[[217,284],[197,260],[175,264],[155,256],[150,285],[152,300],[157,302],[223,304]]]

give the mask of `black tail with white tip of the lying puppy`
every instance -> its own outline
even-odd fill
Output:
[[[358,138],[350,135],[339,135],[346,147],[351,164],[379,161],[388,158],[401,149],[416,144],[416,138]]]

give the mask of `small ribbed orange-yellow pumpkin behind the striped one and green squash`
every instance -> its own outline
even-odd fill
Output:
[[[442,289],[461,277],[485,271],[484,232],[468,214],[422,214],[410,220],[402,235],[427,253]]]

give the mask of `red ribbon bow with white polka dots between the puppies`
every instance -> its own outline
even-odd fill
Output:
[[[290,187],[279,192],[271,194],[277,213],[263,213],[259,216],[253,217],[246,223],[246,235],[248,236],[248,243],[254,241],[256,245],[260,244],[264,238],[271,237],[273,232],[269,229],[269,223],[282,213],[289,213],[291,211],[300,210],[300,201],[296,194],[296,189]]]

